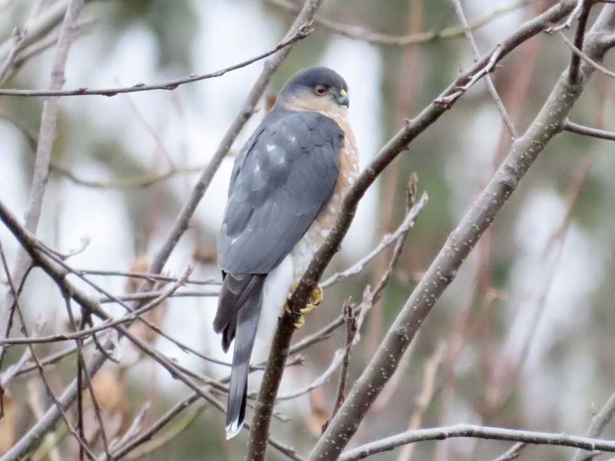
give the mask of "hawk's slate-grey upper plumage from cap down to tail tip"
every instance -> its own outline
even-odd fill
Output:
[[[312,68],[314,69],[314,68]],[[312,71],[308,69],[308,71]],[[318,112],[284,108],[298,89],[341,77],[330,69],[288,81],[235,159],[218,235],[223,286],[213,323],[226,352],[235,340],[226,415],[227,436],[242,427],[250,355],[264,280],[307,232],[335,189],[344,132]],[[325,70],[323,70],[325,69]],[[305,73],[306,71],[304,71]],[[335,74],[335,75],[333,75]],[[345,93],[344,93],[345,94]]]

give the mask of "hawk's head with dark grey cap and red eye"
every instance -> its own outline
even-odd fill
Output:
[[[317,111],[346,116],[349,106],[346,81],[327,67],[310,67],[288,80],[277,104],[291,110]]]

